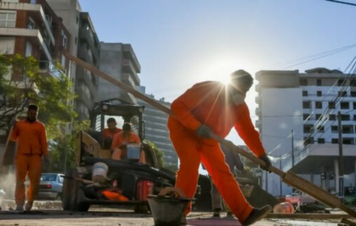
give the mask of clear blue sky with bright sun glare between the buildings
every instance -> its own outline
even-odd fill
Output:
[[[349,0],[356,3],[356,1]],[[172,101],[194,83],[356,43],[356,6],[325,0],[81,0],[100,41],[130,43],[141,85]],[[356,48],[290,67],[344,70]],[[292,63],[287,64],[292,65]],[[285,65],[284,65],[285,66]],[[255,96],[247,104],[255,118]],[[228,138],[243,144],[235,132]]]

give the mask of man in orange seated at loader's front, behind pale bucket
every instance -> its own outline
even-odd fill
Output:
[[[130,145],[130,144],[137,144]],[[111,144],[112,156],[114,160],[121,160],[130,156],[130,151],[138,151],[138,162],[146,164],[145,152],[141,149],[140,137],[138,137],[134,132],[131,131],[131,124],[125,122],[122,126],[122,132],[117,133],[114,136]]]

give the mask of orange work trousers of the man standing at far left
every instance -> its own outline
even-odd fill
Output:
[[[25,204],[25,179],[28,173],[30,186],[27,188],[27,201],[33,201],[40,186],[42,172],[42,158],[37,154],[17,154],[16,155],[16,205]]]

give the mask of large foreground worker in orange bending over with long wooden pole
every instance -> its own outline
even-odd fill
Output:
[[[253,84],[252,76],[244,70],[231,74],[230,84],[208,81],[195,84],[173,101],[173,116],[168,119],[169,136],[179,157],[176,187],[188,198],[193,198],[198,183],[200,162],[208,170],[214,184],[230,210],[242,225],[250,225],[271,212],[266,205],[253,208],[242,195],[239,185],[225,163],[225,156],[210,134],[226,137],[232,127],[252,152],[271,166],[259,133],[255,130],[245,103],[247,91]],[[184,212],[181,224],[186,224]]]

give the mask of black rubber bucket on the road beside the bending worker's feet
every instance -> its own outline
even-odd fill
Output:
[[[190,199],[171,196],[149,195],[148,205],[155,225],[179,226]]]

